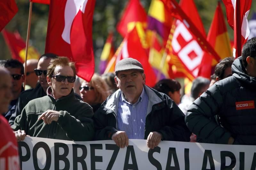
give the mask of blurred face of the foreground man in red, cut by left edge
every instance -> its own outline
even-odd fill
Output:
[[[12,77],[7,73],[0,74],[0,114],[8,110],[12,100]]]

